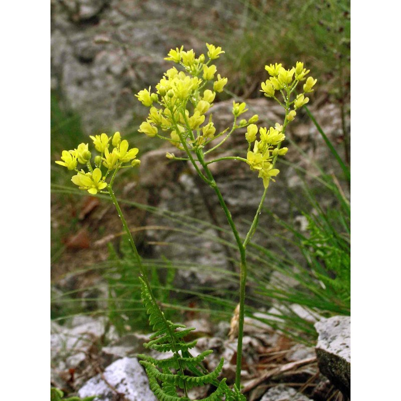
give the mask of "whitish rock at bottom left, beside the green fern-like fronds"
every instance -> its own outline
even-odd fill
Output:
[[[109,385],[98,374],[81,387],[78,395],[81,398],[97,395],[95,401],[113,401],[118,392],[127,401],[156,401],[146,373],[136,358],[118,359],[105,369],[103,376]]]

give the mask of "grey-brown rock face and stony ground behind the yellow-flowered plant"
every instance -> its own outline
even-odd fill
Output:
[[[251,3],[257,5],[259,2]],[[83,130],[88,135],[116,130],[122,133],[135,131],[146,115],[146,109],[133,95],[159,81],[170,66],[163,60],[168,51],[184,45],[195,52],[204,52],[205,42],[219,44],[219,38],[228,28],[240,32],[238,16],[243,10],[241,2],[230,0],[51,0],[52,90],[58,93],[64,107],[81,116]],[[219,61],[218,68],[220,66],[224,69],[224,58]],[[266,98],[244,100],[249,107],[244,118],[258,114],[261,125],[283,120],[282,109]],[[218,130],[225,129],[232,122],[231,107],[231,100],[221,99],[211,109]],[[344,158],[343,125],[345,123],[349,130],[349,119],[343,121],[338,106],[328,102],[325,95],[312,96],[310,109]],[[326,174],[336,174],[341,190],[347,195],[349,192],[341,180],[337,162],[304,113],[298,113],[286,134],[290,142],[286,160],[292,164],[279,166],[279,179],[271,184],[266,211],[260,217],[260,227],[264,232],[260,230],[254,237],[254,241],[264,247],[277,246],[277,238],[266,233],[280,230],[267,210],[305,230],[301,209],[308,206],[302,194],[303,181],[315,191],[323,207],[335,207],[330,193],[316,180],[319,167]],[[237,133],[231,139],[230,148],[221,147],[219,152],[221,155],[244,155],[245,149],[245,135]],[[214,266],[224,271],[237,270],[232,262],[237,259],[236,252],[224,245],[225,240],[232,240],[231,235],[213,227],[226,227],[225,216],[214,193],[198,179],[191,165],[171,163],[165,158],[168,151],[178,154],[175,148],[162,143],[160,147],[141,153],[139,176],[128,179],[121,194],[134,202],[176,212],[197,222],[191,220],[193,234],[160,229],[171,226],[171,221],[146,210],[124,206],[130,227],[133,230],[146,228],[135,233],[140,251],[153,258],[166,257],[173,262],[193,265],[191,270],[178,271],[174,281],[176,287],[191,289],[200,285],[230,289],[233,282],[225,275],[197,268]],[[245,163],[225,161],[211,167],[240,233],[245,235],[249,226],[247,222],[253,219],[263,192],[262,181]],[[72,216],[76,218],[76,209],[77,205],[68,203],[52,204],[53,229],[58,229]],[[105,261],[108,258],[105,244],[110,239],[118,240],[121,233],[118,217],[109,205],[86,198],[80,202],[78,210],[81,212],[76,232],[66,240],[65,252],[52,266],[52,278],[56,283],[53,290],[56,292],[76,291],[98,283],[98,277],[89,276],[84,278],[84,282],[77,282],[75,278],[69,279],[66,273]],[[99,230],[100,227],[103,231]],[[184,226],[178,224],[174,228],[183,229]],[[103,288],[100,295],[107,297],[107,288]],[[89,293],[88,297],[91,296],[93,293]],[[230,377],[234,372],[235,344],[228,339],[228,327],[224,323],[212,327],[210,322],[194,322],[204,329],[204,336],[198,341],[198,351],[213,348],[216,360],[224,355],[228,361],[225,374]],[[248,323],[248,337],[244,343],[244,380],[249,387],[250,400],[319,401],[328,399],[335,388],[342,391],[344,398],[349,395],[350,359],[349,354],[344,355],[344,349],[349,348],[349,334],[348,342],[338,342],[337,335],[332,338],[332,328],[317,326],[319,334],[323,333],[317,344],[317,365],[313,348],[305,349],[300,344],[289,342],[270,327],[255,329],[255,322]],[[349,321],[337,323],[330,324],[340,326],[345,332],[349,330]],[[82,397],[103,394],[99,399],[108,401],[123,399],[118,398],[119,393],[124,393],[126,399],[154,399],[135,358],[137,353],[143,352],[142,334],[134,332],[128,337],[120,337],[107,320],[86,318],[74,318],[69,326],[53,323],[52,333],[52,385],[67,392],[79,390]],[[343,345],[333,351],[330,348],[333,341]],[[327,356],[326,349],[329,349],[329,355],[335,355],[334,361]],[[331,387],[317,366],[335,387]],[[118,384],[122,381],[124,388]],[[283,384],[273,386],[288,382],[302,382],[304,386],[294,388],[311,398]],[[308,390],[305,383],[312,383],[314,390]],[[269,386],[273,388],[269,389]],[[194,397],[205,395],[194,394]]]

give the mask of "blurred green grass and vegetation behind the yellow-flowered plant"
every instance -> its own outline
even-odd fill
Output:
[[[302,305],[311,313],[323,316],[350,313],[350,207],[349,196],[344,194],[338,179],[350,180],[349,177],[349,131],[346,117],[349,115],[350,97],[350,4],[344,0],[306,1],[294,0],[235,0],[242,11],[238,15],[235,27],[216,27],[213,43],[226,51],[225,62],[221,63],[222,76],[228,76],[229,85],[220,100],[236,96],[243,99],[261,97],[259,85],[266,79],[264,66],[280,60],[285,66],[302,60],[318,78],[315,98],[320,102],[331,102],[339,108],[342,118],[345,156],[338,160],[335,146],[332,146],[334,162],[341,164],[342,177],[335,177],[321,171],[316,179],[336,200],[335,208],[323,208],[318,196],[304,185],[305,207],[299,213],[305,217],[308,229],[302,233],[297,225],[281,222],[283,230],[280,236],[296,247],[298,256],[294,258],[286,249],[273,253],[269,249],[250,244],[249,287],[252,295],[248,298],[248,315],[261,310],[268,311],[276,300],[280,305],[271,312],[272,319],[260,318],[297,339],[310,343],[315,338],[313,324],[294,312],[293,304]],[[197,38],[210,42],[200,28],[193,30]],[[205,36],[205,37],[204,37]],[[172,46],[173,47],[173,46]],[[141,152],[151,150],[154,142],[138,135],[136,130],[141,121],[133,121],[127,139],[134,139]],[[324,135],[324,132],[322,132]],[[62,94],[51,93],[51,180],[52,203],[56,205],[75,204],[85,193],[70,185],[70,175],[56,166],[63,149],[74,148],[78,143],[87,141],[83,132],[81,116],[66,106]],[[135,174],[135,172],[133,172]],[[124,183],[135,179],[124,174]],[[126,205],[128,198],[122,199]],[[131,203],[132,204],[132,203]],[[160,211],[146,205],[133,205],[170,218],[172,224],[191,224],[190,219]],[[313,209],[315,213],[310,213]],[[265,211],[271,213],[270,211]],[[274,211],[273,211],[274,212]],[[273,219],[278,219],[272,214]],[[65,236],[74,230],[78,217],[73,217],[68,224],[52,228],[52,263],[66,252]],[[199,223],[199,222],[197,222]],[[215,227],[217,232],[224,230]],[[263,227],[259,228],[263,230]],[[196,234],[196,233],[195,233]],[[193,233],[192,233],[193,235]],[[216,237],[216,241],[222,241]],[[234,244],[232,244],[235,247]],[[124,240],[116,251],[109,245],[108,260],[102,263],[88,264],[85,267],[74,266],[65,272],[67,277],[79,277],[88,272],[96,272],[107,283],[107,299],[100,297],[96,288],[86,288],[82,297],[82,288],[70,291],[57,291],[57,283],[52,290],[52,318],[64,322],[78,313],[106,314],[120,333],[132,327],[145,329],[147,319],[140,302],[137,268],[130,258]],[[186,269],[183,264],[172,264],[168,260],[154,260],[145,257],[152,282],[157,289],[162,304],[170,317],[177,319],[191,316],[193,313],[208,313],[216,321],[229,321],[237,304],[236,292],[208,291],[202,288],[195,291],[174,288],[174,275],[177,269]],[[261,266],[280,274],[273,281],[270,276],[261,274]],[[214,269],[213,266],[205,266]],[[227,272],[227,280],[238,282],[237,273]],[[289,285],[289,282],[292,284]],[[96,287],[96,286],[95,286]],[[209,289],[210,290],[210,289]],[[89,295],[88,295],[89,294]],[[99,299],[100,297],[100,299]],[[180,299],[186,299],[185,304]],[[100,306],[99,306],[100,305]],[[189,305],[189,306],[188,306]]]

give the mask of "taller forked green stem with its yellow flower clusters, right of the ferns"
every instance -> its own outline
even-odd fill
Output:
[[[240,304],[238,316],[238,348],[237,348],[237,371],[236,389],[240,388],[241,361],[242,361],[242,338],[244,326],[244,301],[245,285],[247,275],[246,247],[251,240],[261,212],[270,181],[280,172],[275,167],[278,156],[287,153],[287,147],[282,147],[285,140],[287,125],[296,117],[296,110],[308,103],[306,93],[312,92],[316,79],[306,78],[309,70],[304,68],[302,62],[297,62],[290,69],[285,69],[281,64],[275,63],[265,67],[270,77],[261,84],[261,92],[268,98],[276,100],[285,110],[282,123],[277,122],[271,127],[258,127],[256,125],[259,117],[252,116],[250,119],[238,118],[245,113],[247,105],[245,102],[233,102],[233,125],[222,132],[217,132],[213,123],[213,115],[207,113],[211,110],[217,92],[223,92],[228,79],[218,74],[217,66],[213,63],[224,53],[220,47],[206,44],[207,55],[200,54],[196,57],[194,51],[184,51],[183,47],[171,49],[165,60],[178,65],[168,69],[160,82],[155,86],[154,92],[151,88],[144,89],[135,95],[146,107],[149,114],[146,121],[142,122],[139,132],[149,137],[158,137],[168,140],[171,144],[183,151],[183,157],[177,157],[173,153],[167,153],[166,157],[175,160],[188,160],[192,163],[198,175],[208,183],[219,198],[220,204],[226,214],[227,220],[233,231],[238,250],[240,253]],[[181,71],[179,71],[179,69]],[[297,92],[298,84],[304,82],[302,90]],[[246,129],[245,139],[248,149],[244,156],[233,155],[210,158],[210,153],[218,149],[232,133],[238,129]],[[66,155],[66,158],[69,156]],[[225,203],[219,186],[217,185],[209,164],[220,160],[240,160],[246,162],[251,170],[256,171],[262,178],[264,192],[245,240],[240,238],[231,213]]]

